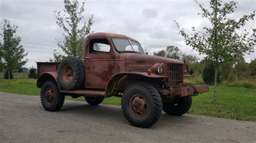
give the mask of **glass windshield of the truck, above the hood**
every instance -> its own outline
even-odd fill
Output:
[[[142,46],[134,40],[113,38],[114,47],[118,52],[137,52],[144,53]]]

